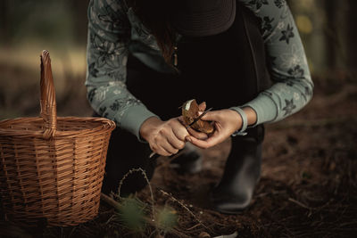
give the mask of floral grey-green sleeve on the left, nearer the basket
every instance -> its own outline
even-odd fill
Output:
[[[87,100],[100,116],[140,138],[141,124],[155,115],[126,87],[130,23],[124,2],[88,5]]]

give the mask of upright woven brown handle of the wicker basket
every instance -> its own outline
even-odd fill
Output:
[[[45,122],[43,137],[53,138],[57,129],[57,111],[54,92],[54,78],[52,76],[50,53],[44,50],[41,55],[41,112]]]

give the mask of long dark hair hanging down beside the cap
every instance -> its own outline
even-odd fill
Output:
[[[159,45],[162,56],[172,66],[176,33],[170,26],[169,0],[127,0],[145,27],[150,30]]]

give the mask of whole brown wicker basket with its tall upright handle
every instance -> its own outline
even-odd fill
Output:
[[[40,58],[41,117],[0,121],[1,200],[7,219],[22,226],[75,226],[98,213],[115,124],[57,118],[49,53]]]

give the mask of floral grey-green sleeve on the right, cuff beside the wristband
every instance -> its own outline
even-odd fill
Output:
[[[255,125],[276,122],[301,110],[312,97],[313,83],[303,44],[285,0],[240,0],[262,22],[270,77],[274,84],[250,106]],[[233,108],[234,109],[234,108]]]

